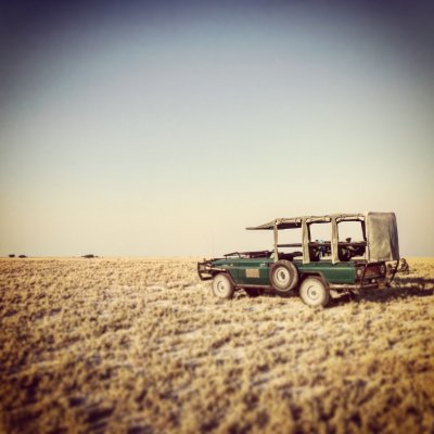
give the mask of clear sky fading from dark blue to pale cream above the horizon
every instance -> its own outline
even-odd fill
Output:
[[[434,256],[433,47],[425,1],[3,2],[0,256],[220,256],[365,210]]]

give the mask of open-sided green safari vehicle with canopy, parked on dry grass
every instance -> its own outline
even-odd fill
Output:
[[[234,252],[197,263],[200,278],[213,280],[217,297],[231,298],[241,289],[251,296],[264,292],[284,296],[298,291],[307,305],[326,306],[331,292],[385,288],[399,264],[394,213],[277,218],[247,230],[272,231],[273,248]],[[358,239],[347,237],[348,230]],[[298,235],[298,240],[280,242],[288,233]],[[317,238],[318,233],[323,239]],[[393,265],[391,273],[386,263]]]

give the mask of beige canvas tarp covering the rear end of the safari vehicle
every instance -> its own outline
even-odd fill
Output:
[[[367,213],[368,260],[398,260],[399,243],[395,213]]]

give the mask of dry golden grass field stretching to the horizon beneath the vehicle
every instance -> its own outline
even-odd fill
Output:
[[[312,309],[194,259],[1,259],[0,431],[433,433],[434,260]]]

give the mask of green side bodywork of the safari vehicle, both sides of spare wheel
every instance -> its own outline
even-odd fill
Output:
[[[269,269],[272,258],[228,258],[213,261],[213,266],[227,269],[239,285],[270,286]],[[301,276],[303,273],[321,275],[328,283],[348,283],[356,281],[354,261],[332,264],[330,260],[303,264],[294,260]]]

